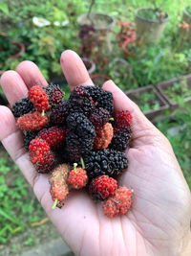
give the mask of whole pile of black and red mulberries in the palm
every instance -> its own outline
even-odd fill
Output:
[[[114,112],[113,94],[97,86],[76,86],[69,100],[63,98],[54,84],[34,85],[12,106],[33,166],[50,173],[53,208],[61,208],[72,189],[86,188],[109,218],[126,214],[133,191],[118,186],[116,176],[128,167],[123,151],[131,140],[131,114]]]

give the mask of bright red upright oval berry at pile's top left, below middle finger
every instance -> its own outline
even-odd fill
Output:
[[[42,112],[49,109],[49,97],[40,86],[32,86],[29,91],[29,99],[37,111]]]

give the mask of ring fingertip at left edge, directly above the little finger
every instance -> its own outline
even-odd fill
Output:
[[[25,82],[15,71],[7,71],[1,77],[1,86],[11,105],[28,95]]]

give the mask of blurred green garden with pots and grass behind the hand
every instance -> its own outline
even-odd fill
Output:
[[[59,64],[66,49],[83,58],[96,85],[114,80],[168,137],[191,188],[190,0],[0,1],[0,75],[29,59],[68,97]],[[8,105],[2,89],[0,104]],[[0,255],[57,238],[0,145]]]

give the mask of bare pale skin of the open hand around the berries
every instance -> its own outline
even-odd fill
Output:
[[[73,51],[65,51],[60,62],[71,89],[93,85]],[[16,71],[7,71],[1,78],[11,105],[27,96],[34,84],[48,83],[31,61],[21,62]],[[191,255],[191,196],[169,141],[113,81],[106,81],[103,89],[113,93],[116,111],[128,109],[133,115],[133,143],[126,151],[129,168],[118,178],[119,185],[135,192],[126,215],[112,220],[105,217],[101,203],[93,202],[84,192],[71,192],[62,209],[52,210],[48,175],[33,169],[11,110],[0,106],[0,139],[5,149],[76,255]]]

